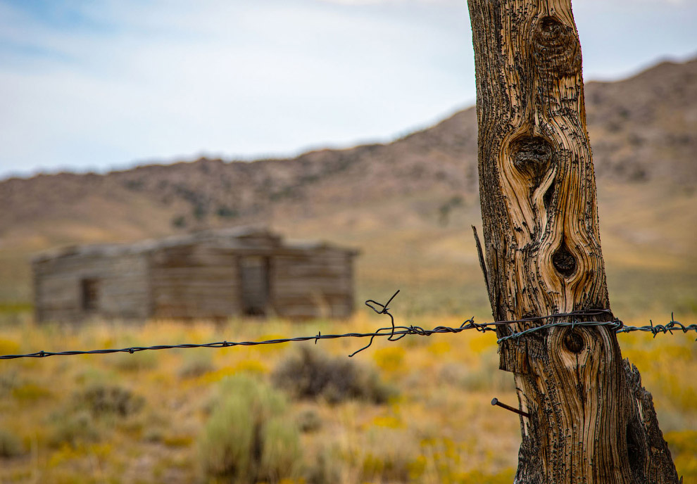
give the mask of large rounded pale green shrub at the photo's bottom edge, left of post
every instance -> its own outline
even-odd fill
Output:
[[[284,395],[248,375],[220,382],[198,444],[201,468],[209,478],[276,483],[299,472],[300,436]]]

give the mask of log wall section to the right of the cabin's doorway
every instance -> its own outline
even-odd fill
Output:
[[[274,255],[272,304],[289,318],[344,318],[353,311],[353,253],[319,248]]]

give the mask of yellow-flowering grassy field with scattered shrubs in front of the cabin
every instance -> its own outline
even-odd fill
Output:
[[[406,300],[395,301],[395,314],[403,313]],[[687,322],[696,314],[678,316]],[[362,311],[350,321],[306,324],[151,321],[75,327],[6,319],[0,352],[257,340],[368,331],[385,322]],[[408,322],[429,327],[461,321],[432,316]],[[346,338],[316,346],[285,343],[2,361],[0,482],[234,482],[225,475],[230,469],[243,469],[238,470],[241,482],[511,482],[520,442],[518,419],[489,402],[498,397],[515,405],[516,399],[510,374],[497,369],[491,333],[379,340],[353,359],[346,357],[363,344]],[[653,393],[684,482],[697,482],[694,335],[655,340],[647,334],[621,335],[620,344]],[[299,396],[303,382],[287,376],[297,374],[292,362],[302,348],[318,352],[306,359],[333,382],[316,397]],[[282,369],[287,373],[279,378]],[[241,457],[220,461],[211,450],[230,448],[234,454],[237,447],[226,444],[225,435],[239,436],[245,428],[222,433],[215,428],[254,421],[239,415],[225,419],[225,402],[248,394],[261,396],[240,402],[245,412],[264,399],[275,402],[269,421],[277,422],[277,428],[263,431],[263,452],[250,454],[243,448],[248,457],[254,452],[263,456],[257,467],[253,457],[251,464]],[[239,412],[241,407],[234,408]],[[230,421],[236,424],[226,424]]]

